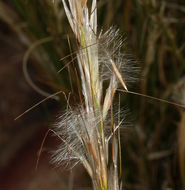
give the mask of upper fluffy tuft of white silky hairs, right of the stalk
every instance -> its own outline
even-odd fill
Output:
[[[137,82],[139,67],[131,55],[121,52],[125,40],[120,35],[119,29],[110,27],[107,32],[103,34],[101,32],[98,39],[99,64],[102,66],[101,75],[103,79],[110,79],[112,74],[112,59],[126,86]]]

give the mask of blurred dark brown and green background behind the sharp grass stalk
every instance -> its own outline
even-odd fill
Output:
[[[120,28],[128,54],[140,67],[141,80],[130,90],[185,105],[184,0],[99,0],[98,23],[99,30],[112,25]],[[70,54],[68,38],[75,50],[60,0],[0,1],[2,189],[88,189],[89,182],[79,182],[82,178],[88,181],[82,169],[75,169],[74,176],[56,173],[46,153],[38,172],[32,171],[26,180],[15,180],[17,175],[34,170],[45,131],[59,110],[65,109],[65,98],[60,95],[57,101],[44,102],[18,121],[13,119],[48,94],[69,93],[71,84],[73,95],[78,92],[76,72],[69,64],[57,73],[71,60],[60,61]],[[121,98],[133,125],[122,134],[124,189],[185,188],[185,109],[131,94],[122,93]],[[55,147],[55,141],[49,137],[45,149]],[[26,168],[26,163],[32,167]],[[19,166],[15,168],[15,164]],[[82,174],[75,177],[79,171]]]

